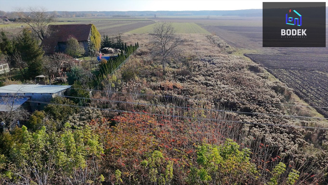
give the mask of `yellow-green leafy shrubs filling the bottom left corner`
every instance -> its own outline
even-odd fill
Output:
[[[101,184],[98,171],[104,149],[90,127],[29,132],[25,126],[0,135],[1,184]]]

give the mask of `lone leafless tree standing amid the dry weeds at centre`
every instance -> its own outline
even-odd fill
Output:
[[[158,22],[154,25],[153,32],[150,33],[153,55],[162,58],[164,72],[167,60],[174,58],[177,53],[176,47],[183,42],[180,37],[175,35],[175,32],[172,23]]]

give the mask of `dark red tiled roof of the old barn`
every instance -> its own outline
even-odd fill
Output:
[[[57,42],[66,42],[70,37],[78,41],[88,40],[91,24],[49,25],[48,31],[50,34],[43,38],[41,46],[46,53],[54,53]]]

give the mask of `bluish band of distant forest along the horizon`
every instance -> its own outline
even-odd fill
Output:
[[[49,11],[56,17],[92,17],[92,16],[111,16],[111,17],[133,17],[133,16],[243,16],[253,17],[262,16],[262,9],[250,10],[201,10],[201,11]],[[13,16],[11,12],[0,11],[0,16]]]

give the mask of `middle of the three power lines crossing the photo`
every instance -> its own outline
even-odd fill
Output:
[[[0,88],[1,89],[1,88]],[[15,90],[8,90],[8,91],[15,91]],[[21,91],[25,93],[30,93],[26,91]],[[15,91],[16,92],[16,91]],[[160,104],[148,104],[148,103],[138,103],[138,102],[128,102],[128,101],[117,101],[117,100],[104,100],[104,99],[96,99],[96,98],[85,98],[85,97],[76,97],[76,96],[66,96],[66,95],[57,95],[55,96],[60,97],[68,97],[68,98],[79,98],[79,99],[90,99],[90,100],[99,100],[99,101],[108,101],[108,102],[115,102],[115,103],[128,103],[128,104],[137,104],[137,105],[147,105],[147,106],[162,106],[162,107],[169,107],[169,108],[180,108],[180,109],[195,109],[195,110],[204,110],[204,111],[217,111],[217,112],[230,112],[230,113],[244,113],[244,114],[256,114],[256,115],[270,115],[270,116],[282,116],[282,117],[298,117],[298,118],[312,118],[312,119],[328,119],[324,117],[309,117],[309,116],[294,116],[294,115],[285,115],[285,114],[268,114],[268,113],[250,113],[250,112],[240,112],[240,111],[229,111],[229,110],[218,110],[218,109],[202,109],[202,108],[193,108],[193,107],[179,107],[179,106],[167,106],[167,105],[160,105]]]

